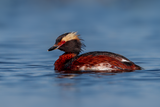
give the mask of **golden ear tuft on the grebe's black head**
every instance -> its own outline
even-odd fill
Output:
[[[80,40],[78,38],[77,32],[71,32],[68,35],[66,35],[65,37],[63,37],[62,41],[66,41],[67,42],[67,41],[75,40],[75,39]]]

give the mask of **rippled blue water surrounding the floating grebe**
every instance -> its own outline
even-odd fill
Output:
[[[159,107],[159,0],[0,0],[1,107]],[[122,54],[144,70],[60,74],[47,52],[78,31],[89,51]],[[84,53],[83,52],[83,53]]]

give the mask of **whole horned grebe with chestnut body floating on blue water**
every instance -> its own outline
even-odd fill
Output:
[[[76,32],[62,34],[48,49],[65,52],[54,63],[55,70],[124,72],[142,69],[124,56],[112,52],[94,51],[79,55],[85,45],[78,36]]]

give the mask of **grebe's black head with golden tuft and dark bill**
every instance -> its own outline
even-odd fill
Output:
[[[78,36],[77,32],[64,33],[56,39],[55,45],[49,48],[48,51],[59,49],[64,52],[79,54],[85,45],[81,43],[81,39]]]

